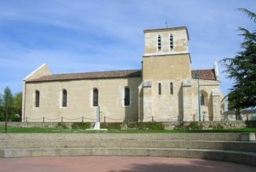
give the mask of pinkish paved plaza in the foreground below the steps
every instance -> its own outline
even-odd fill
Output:
[[[40,158],[0,158],[0,172],[150,172],[150,171],[256,171],[255,166],[188,158],[131,156],[74,156]]]

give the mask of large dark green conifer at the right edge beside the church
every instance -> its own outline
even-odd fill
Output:
[[[256,14],[247,9],[239,9],[256,23]],[[242,27],[238,28],[244,41],[241,50],[234,58],[222,60],[227,68],[227,77],[234,80],[234,85],[228,96],[229,108],[237,111],[237,119],[241,108],[255,108],[256,105],[256,30],[250,32]]]

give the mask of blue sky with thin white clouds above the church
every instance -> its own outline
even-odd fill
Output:
[[[188,27],[191,69],[234,57],[238,27],[255,25],[237,8],[253,0],[0,0],[0,93],[22,91],[30,72],[53,74],[141,68],[144,29]],[[232,87],[219,64],[221,90]]]

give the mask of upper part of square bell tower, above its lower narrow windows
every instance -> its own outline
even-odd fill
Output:
[[[143,80],[191,78],[188,29],[147,29],[143,55]]]

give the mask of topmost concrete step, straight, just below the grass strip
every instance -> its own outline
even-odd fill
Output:
[[[2,133],[0,140],[224,140],[241,139],[241,133]]]

